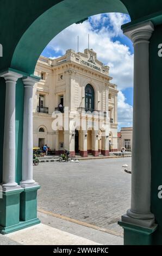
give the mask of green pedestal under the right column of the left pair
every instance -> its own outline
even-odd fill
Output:
[[[20,196],[20,220],[30,221],[37,218],[37,191],[40,186],[26,187]]]

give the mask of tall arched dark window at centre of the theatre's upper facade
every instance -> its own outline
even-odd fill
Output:
[[[86,111],[95,109],[95,91],[90,84],[85,87],[85,108]]]

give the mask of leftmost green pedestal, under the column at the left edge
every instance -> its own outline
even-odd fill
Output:
[[[23,188],[2,191],[2,198],[0,199],[0,227],[3,227],[3,229],[17,225],[20,222],[20,194],[22,192]]]

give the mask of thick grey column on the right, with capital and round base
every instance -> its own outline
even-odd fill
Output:
[[[131,208],[122,221],[151,227],[151,149],[149,133],[149,39],[151,21],[123,29],[134,43],[134,105]]]

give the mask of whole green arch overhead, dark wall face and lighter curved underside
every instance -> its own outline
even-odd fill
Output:
[[[162,1],[153,0],[5,0],[0,2],[0,70],[33,74],[36,61],[51,39],[72,23],[91,15],[128,13],[132,22],[162,23]]]

